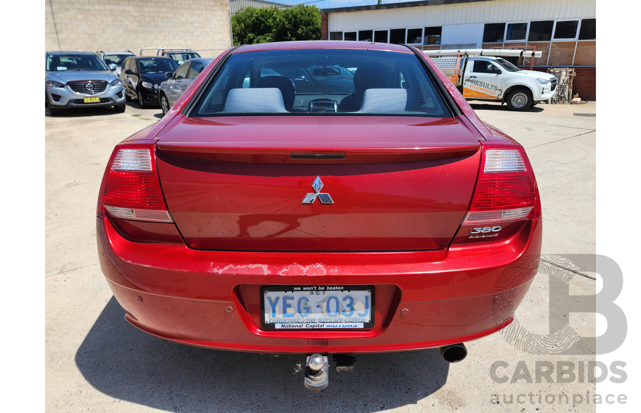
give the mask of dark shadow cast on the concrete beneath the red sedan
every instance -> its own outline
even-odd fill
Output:
[[[76,353],[89,384],[113,398],[181,412],[378,412],[434,393],[449,366],[437,350],[357,355],[353,373],[330,366],[329,387],[303,387],[303,355],[206,350],[132,327],[112,297]],[[331,359],[330,359],[331,360]],[[315,404],[312,404],[315,403]]]

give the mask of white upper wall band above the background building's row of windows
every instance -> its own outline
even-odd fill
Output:
[[[328,26],[329,31],[349,31],[590,17],[596,17],[595,0],[493,0],[329,13]]]

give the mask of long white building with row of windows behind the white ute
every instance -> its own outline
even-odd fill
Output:
[[[574,90],[596,99],[595,0],[428,0],[324,9],[322,38],[422,50],[536,47],[533,61],[576,70]],[[519,61],[529,66],[528,59]]]

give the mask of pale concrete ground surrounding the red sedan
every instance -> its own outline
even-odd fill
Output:
[[[524,113],[473,106],[524,145],[541,193],[544,261],[516,314],[513,326],[520,329],[467,343],[467,359],[451,365],[437,350],[358,355],[353,373],[330,369],[329,387],[320,393],[303,387],[297,371],[303,356],[183,346],[124,320],[98,264],[96,200],[113,146],[156,122],[160,109],[129,104],[119,114],[46,115],[47,412],[594,412],[594,402],[584,399],[595,384],[579,380],[578,368],[583,364],[587,371],[594,362],[592,341],[579,342],[572,355],[559,354],[554,344],[545,353],[519,343],[528,334],[549,333],[551,292],[553,311],[572,306],[572,296],[556,300],[558,280],[569,285],[570,295],[595,293],[589,270],[589,254],[595,253],[595,117],[574,115],[594,114],[595,103],[540,104]],[[595,314],[567,318],[575,335],[596,336]],[[558,377],[556,371],[569,364],[575,378]],[[540,366],[553,366],[554,373],[537,375]]]

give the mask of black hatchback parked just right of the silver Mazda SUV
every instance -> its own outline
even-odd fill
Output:
[[[167,72],[178,69],[171,58],[140,57],[126,58],[122,63],[121,79],[128,100],[137,99],[142,108],[158,104],[158,88],[167,79]]]

